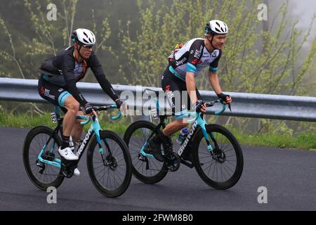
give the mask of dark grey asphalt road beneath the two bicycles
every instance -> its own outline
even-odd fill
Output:
[[[29,181],[22,163],[28,131],[0,128],[0,210],[316,210],[315,151],[248,146],[242,146],[242,177],[226,191],[210,188],[195,169],[181,165],[159,184],[133,178],[119,198],[106,198],[91,183],[84,155],[81,176],[65,179],[57,203],[48,204],[48,193]],[[268,203],[258,203],[261,186],[267,188]]]

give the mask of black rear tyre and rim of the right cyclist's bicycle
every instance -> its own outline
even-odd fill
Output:
[[[145,172],[144,165],[146,162],[140,161],[138,159],[139,153],[140,153],[140,148],[142,148],[143,144],[147,140],[149,136],[145,136],[145,139],[142,141],[138,142],[137,146],[134,145],[131,142],[131,138],[133,137],[133,134],[138,130],[138,129],[148,129],[150,130],[150,134],[152,131],[154,131],[156,126],[152,122],[148,122],[145,120],[139,120],[136,122],[133,122],[125,131],[124,134],[124,141],[126,145],[129,147],[129,152],[131,153],[131,159],[132,159],[132,166],[133,166],[133,175],[138,179],[139,181],[142,181],[145,184],[156,184],[159,181],[162,181],[166,174],[168,173],[168,168],[166,166],[165,162],[159,162],[158,160],[154,158],[147,158],[149,166],[156,167],[156,169],[150,169],[150,172],[155,172],[157,171],[157,174],[154,174],[152,176],[148,175],[148,172]],[[143,132],[143,130],[142,130]],[[143,132],[146,133],[146,132]],[[149,131],[148,131],[149,133]],[[137,140],[139,139],[138,137],[133,137],[133,139]],[[135,148],[136,147],[136,148]],[[140,165],[138,165],[140,163]],[[157,166],[158,165],[158,166]],[[162,165],[162,167],[160,167]],[[143,171],[139,171],[142,169]],[[147,171],[148,169],[146,169]]]

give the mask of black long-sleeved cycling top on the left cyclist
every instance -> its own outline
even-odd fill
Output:
[[[91,68],[103,91],[105,91],[113,101],[117,100],[119,97],[115,94],[110,82],[105,78],[102,66],[96,54],[93,52],[88,60],[77,63],[77,60],[74,58],[74,46],[71,46],[60,51],[57,56],[45,60],[37,72],[40,72],[42,74],[41,77],[51,84],[65,86],[65,89],[84,106],[87,101],[79,89],[77,89],[76,83],[84,78],[88,68]]]

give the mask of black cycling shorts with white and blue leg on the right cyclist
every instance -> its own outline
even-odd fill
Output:
[[[164,74],[162,75],[162,89],[164,90],[167,101],[172,109],[172,113],[176,117],[180,117],[187,113],[187,110],[191,108],[190,96],[187,93],[186,83],[173,75],[173,73],[166,68]],[[201,99],[199,90],[195,87],[197,93],[197,99]]]

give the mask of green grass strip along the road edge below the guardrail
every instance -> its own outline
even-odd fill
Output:
[[[126,119],[121,119],[119,122],[105,122],[100,120],[103,129],[109,129],[118,134],[123,135],[129,122]],[[0,113],[0,127],[20,127],[31,128],[37,125],[46,125],[48,127],[55,127],[51,122],[51,115],[34,115],[30,117],[29,114],[20,113],[11,115],[8,113]],[[86,130],[89,126],[86,126]],[[289,134],[259,134],[249,135],[243,134],[237,129],[231,129],[232,134],[235,135],[239,143],[246,146],[267,146],[276,148],[301,148],[316,150],[316,133],[301,133],[298,136],[291,136]]]

